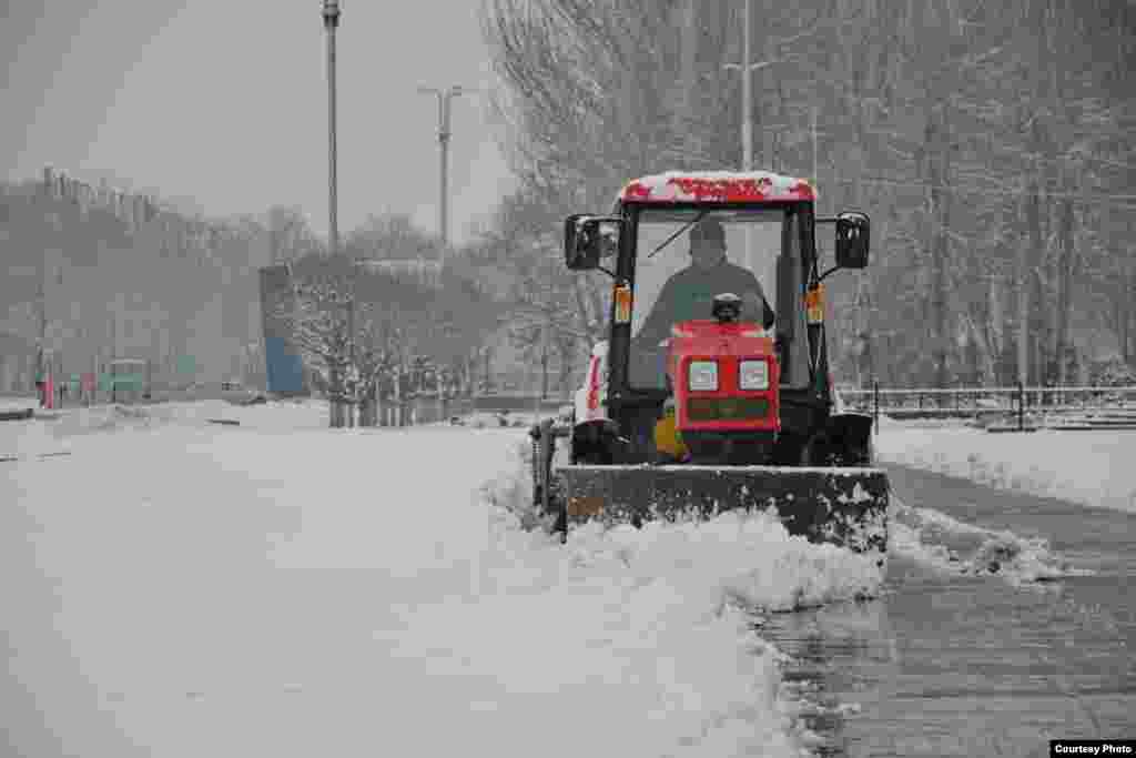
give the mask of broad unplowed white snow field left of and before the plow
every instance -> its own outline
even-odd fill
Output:
[[[325,422],[0,425],[9,752],[795,755],[752,611],[883,578],[761,517],[565,548],[518,526],[524,430]]]

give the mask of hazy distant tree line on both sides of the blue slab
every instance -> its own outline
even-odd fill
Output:
[[[451,383],[467,376],[469,359],[495,327],[492,298],[475,284],[473,269],[443,269],[438,241],[406,216],[369,218],[333,259],[299,208],[204,219],[151,197],[53,172],[45,177],[0,192],[7,266],[0,331],[27,345],[6,349],[3,360],[18,364],[0,372],[6,383],[27,389],[48,366],[84,373],[124,357],[148,359],[159,385],[242,373],[257,383],[265,358],[258,269],[270,263],[293,264],[302,286],[298,336],[309,367],[325,388],[333,377],[351,377],[357,398],[379,394],[376,382],[404,386],[399,372],[424,359]],[[369,265],[348,290],[352,261]],[[348,294],[357,299],[360,330],[352,366],[328,353],[335,340],[351,344],[340,334],[346,323],[336,320],[346,313],[336,300]],[[186,356],[193,360],[182,360]],[[179,375],[177,367],[190,364],[194,373]]]

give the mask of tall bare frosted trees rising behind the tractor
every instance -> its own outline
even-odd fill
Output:
[[[872,267],[834,282],[844,380],[1069,382],[1109,352],[1133,361],[1136,7],[751,2],[759,165],[875,226]],[[500,241],[535,264],[542,231],[605,209],[628,178],[737,167],[742,10],[486,0],[520,180]],[[596,293],[551,283],[586,333]]]

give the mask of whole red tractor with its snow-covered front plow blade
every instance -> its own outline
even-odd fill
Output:
[[[609,215],[568,217],[568,268],[607,273],[612,297],[571,423],[532,430],[535,498],[565,536],[776,508],[791,534],[883,558],[888,481],[871,417],[834,395],[822,284],[867,266],[870,226],[813,203],[803,180],[668,173],[628,183]]]

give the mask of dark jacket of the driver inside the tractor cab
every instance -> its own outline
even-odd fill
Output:
[[[722,292],[733,292],[743,299],[747,293],[755,293],[763,310],[762,326],[772,326],[774,311],[766,301],[758,277],[747,268],[724,259],[712,268],[690,266],[667,280],[636,341],[658,344],[670,336],[673,324],[695,318],[713,318],[713,298]],[[742,320],[758,320],[758,315],[751,310],[750,306],[743,306]]]

